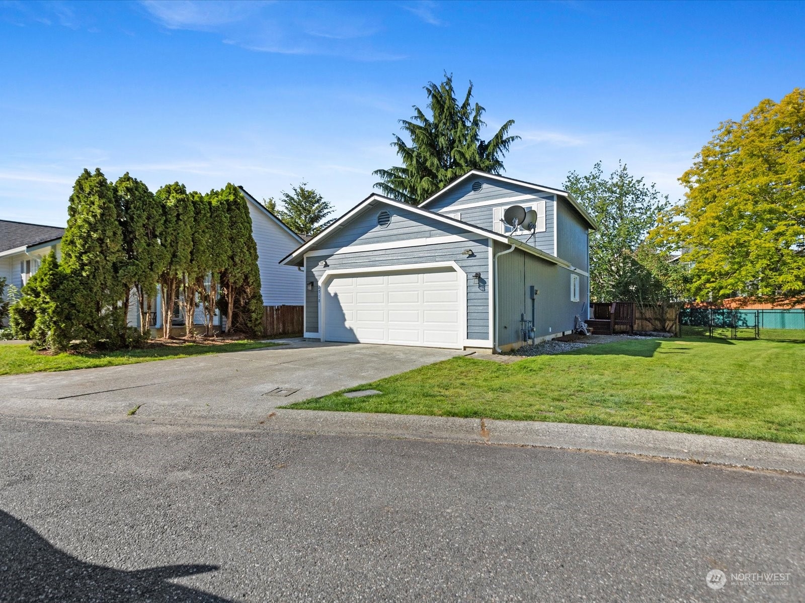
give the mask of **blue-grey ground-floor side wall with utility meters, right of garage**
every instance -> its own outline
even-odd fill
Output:
[[[506,251],[506,245],[495,243],[495,252]],[[498,333],[497,343],[505,346],[523,343],[521,314],[531,318],[530,285],[539,289],[536,296],[535,336],[545,337],[572,330],[576,314],[586,317],[587,277],[580,278],[579,301],[570,301],[572,271],[515,249],[497,260]]]

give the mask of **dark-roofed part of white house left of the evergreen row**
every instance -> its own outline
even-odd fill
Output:
[[[22,289],[51,249],[61,259],[62,235],[64,228],[0,219],[0,278],[6,279],[6,289]]]

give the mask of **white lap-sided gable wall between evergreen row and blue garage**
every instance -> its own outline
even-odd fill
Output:
[[[294,266],[279,265],[279,260],[299,247],[299,240],[259,207],[254,207],[253,202],[248,204],[252,236],[257,244],[262,303],[265,306],[301,306],[304,299],[304,274]]]

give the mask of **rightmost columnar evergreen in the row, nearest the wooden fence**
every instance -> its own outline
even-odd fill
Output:
[[[226,332],[257,334],[262,330],[262,294],[257,244],[252,236],[249,206],[240,189],[229,183],[219,192],[229,218],[229,258],[221,273]]]

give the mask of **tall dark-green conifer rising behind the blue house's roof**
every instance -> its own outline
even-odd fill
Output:
[[[391,143],[403,165],[373,172],[381,179],[376,188],[406,203],[422,202],[469,170],[500,174],[503,155],[520,138],[509,135],[514,120],[506,121],[489,140],[481,138],[485,109],[472,102],[472,82],[461,104],[456,100],[452,75],[445,73],[443,82],[429,82],[424,89],[430,116],[414,105],[414,116],[400,120],[410,142],[394,135]]]

